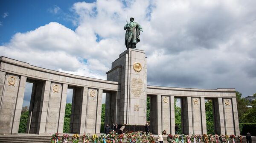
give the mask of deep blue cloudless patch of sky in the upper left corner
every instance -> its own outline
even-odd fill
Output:
[[[85,1],[92,3],[95,0]],[[58,22],[75,30],[76,25],[73,25],[69,18],[73,16],[70,8],[76,2],[79,1],[0,0],[0,43],[9,42],[17,32],[31,31],[49,22]],[[60,9],[54,13],[54,8]]]

